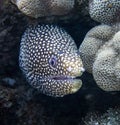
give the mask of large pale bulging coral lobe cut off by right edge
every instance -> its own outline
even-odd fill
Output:
[[[120,31],[96,54],[93,76],[105,91],[120,91]]]

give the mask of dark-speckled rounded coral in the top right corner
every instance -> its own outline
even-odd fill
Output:
[[[90,0],[89,13],[100,23],[120,21],[120,0]]]

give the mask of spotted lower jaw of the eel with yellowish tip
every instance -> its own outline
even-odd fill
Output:
[[[42,83],[39,84],[38,90],[48,96],[63,97],[77,92],[81,86],[82,81],[79,77],[54,76],[42,79]]]

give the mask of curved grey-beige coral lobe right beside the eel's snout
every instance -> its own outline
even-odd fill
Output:
[[[93,62],[98,49],[112,37],[113,33],[111,26],[100,25],[92,28],[86,34],[79,51],[84,67],[88,72],[92,73]]]

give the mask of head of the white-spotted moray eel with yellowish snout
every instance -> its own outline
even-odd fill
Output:
[[[63,97],[82,86],[77,46],[58,26],[29,26],[21,39],[19,65],[28,83],[43,94]]]

